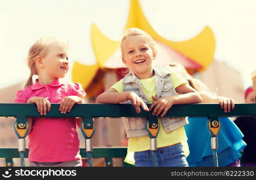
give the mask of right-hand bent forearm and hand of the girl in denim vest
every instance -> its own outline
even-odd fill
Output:
[[[149,110],[152,110],[155,107],[152,115],[158,116],[163,112],[161,114],[163,117],[173,104],[202,103],[201,96],[189,85],[189,83],[183,83],[176,87],[175,90],[179,93],[178,95],[170,95],[162,98],[152,97],[153,100],[155,100],[149,107]]]

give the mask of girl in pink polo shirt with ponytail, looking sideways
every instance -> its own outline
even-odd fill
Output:
[[[61,82],[69,70],[67,46],[54,37],[40,38],[28,52],[30,77],[16,94],[15,103],[34,103],[46,115],[51,103],[60,103],[60,112],[70,112],[86,96],[80,83]],[[33,83],[33,76],[38,79]],[[81,120],[81,119],[80,119]],[[30,166],[81,166],[75,118],[27,118],[30,132]]]

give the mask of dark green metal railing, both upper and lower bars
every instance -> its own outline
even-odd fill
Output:
[[[148,104],[150,106],[150,104]],[[157,123],[157,117],[152,112],[136,113],[131,104],[75,104],[71,112],[63,115],[58,110],[59,104],[51,104],[51,111],[45,117],[83,117],[85,128],[92,127],[92,119],[100,117],[146,117],[149,119],[149,127]],[[180,104],[173,106],[165,117],[189,116],[208,117],[216,119],[219,116],[255,116],[256,104],[236,104],[236,108],[229,113],[220,109],[219,104]],[[0,116],[17,118],[17,123],[24,123],[26,117],[40,117],[35,104],[0,103]],[[85,149],[80,151],[82,157],[86,157]],[[28,149],[25,151],[25,157]],[[126,148],[93,148],[92,157],[104,157],[107,164],[111,165],[111,158],[125,157]],[[17,149],[0,148],[0,158],[6,158],[7,163],[11,158],[18,158]]]

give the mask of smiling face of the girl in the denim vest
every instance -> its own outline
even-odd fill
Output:
[[[122,61],[130,67],[139,79],[152,77],[152,61],[155,54],[149,46],[148,38],[142,35],[128,36],[122,43]]]

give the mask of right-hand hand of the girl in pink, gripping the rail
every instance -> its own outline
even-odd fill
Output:
[[[60,108],[58,110],[60,110],[62,114],[66,114],[67,112],[70,112],[73,105],[75,105],[76,103],[83,103],[82,98],[76,95],[70,95],[70,96],[64,97],[60,101]]]

